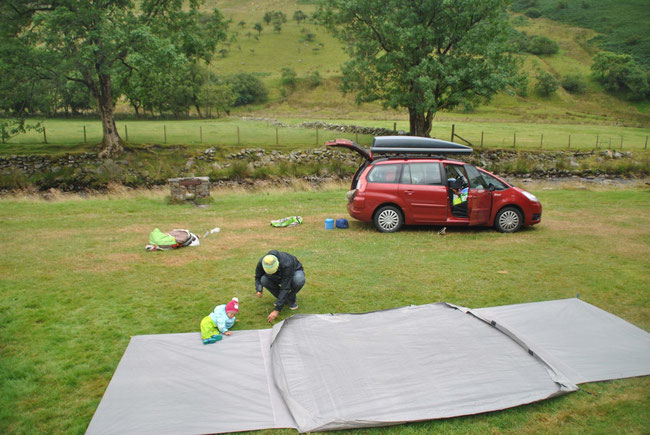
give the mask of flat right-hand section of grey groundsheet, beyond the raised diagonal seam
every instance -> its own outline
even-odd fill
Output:
[[[650,334],[580,299],[479,308],[574,384],[650,374]]]

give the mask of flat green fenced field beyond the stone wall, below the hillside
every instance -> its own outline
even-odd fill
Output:
[[[297,125],[309,119],[281,118],[287,125]],[[60,153],[91,150],[101,141],[101,123],[93,120],[43,120],[47,144],[43,133],[30,132],[12,138],[0,145],[2,154]],[[331,119],[330,123],[382,127],[408,130],[408,122]],[[435,122],[432,137],[451,139],[452,125],[455,133],[474,146],[518,147],[523,149],[593,149],[615,148],[622,150],[646,149],[649,128],[598,126],[593,124],[525,124],[491,122]],[[84,127],[86,143],[84,144]],[[117,123],[122,139],[134,144],[183,144],[195,149],[210,145],[230,149],[262,147],[266,149],[293,150],[318,148],[334,138],[348,138],[362,145],[370,145],[372,137],[354,133],[305,128],[276,128],[265,121],[244,121],[237,118],[186,121],[122,121]],[[238,134],[239,131],[239,134]],[[464,143],[461,139],[455,141]]]

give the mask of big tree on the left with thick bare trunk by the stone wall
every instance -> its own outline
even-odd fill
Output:
[[[202,15],[200,3],[3,0],[0,45],[24,49],[25,56],[13,61],[30,72],[29,80],[62,77],[86,86],[102,120],[100,156],[114,156],[122,151],[114,119],[120,95],[115,83],[135,69],[132,58],[209,61],[225,37],[221,14]]]

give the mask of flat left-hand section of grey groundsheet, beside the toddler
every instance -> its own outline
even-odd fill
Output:
[[[204,346],[199,333],[131,339],[89,434],[193,434],[296,424],[273,386],[272,331],[236,331]]]

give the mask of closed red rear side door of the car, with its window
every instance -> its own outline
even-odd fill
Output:
[[[403,164],[398,192],[406,205],[407,221],[437,223],[447,219],[447,188],[438,162]],[[410,219],[409,219],[410,217]]]

